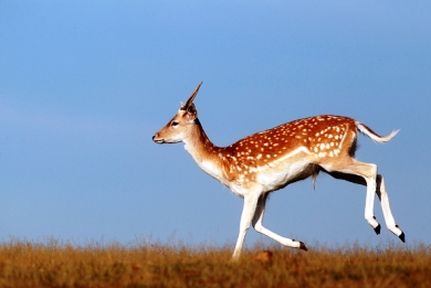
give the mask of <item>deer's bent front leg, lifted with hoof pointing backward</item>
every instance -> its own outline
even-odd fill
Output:
[[[299,241],[294,241],[290,238],[282,237],[277,234],[275,234],[272,231],[269,231],[263,226],[263,214],[265,213],[265,204],[266,204],[267,194],[263,194],[259,198],[256,211],[254,213],[252,225],[255,231],[259,233],[269,236],[270,238],[278,242],[280,244],[293,247],[293,248],[301,248],[303,250],[307,250],[307,247],[305,247],[305,244]]]

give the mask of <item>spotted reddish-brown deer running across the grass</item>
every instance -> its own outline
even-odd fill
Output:
[[[280,244],[307,250],[301,241],[282,237],[263,226],[269,194],[286,185],[312,178],[319,172],[367,188],[365,218],[380,234],[374,214],[375,193],[386,225],[404,243],[404,233],[396,224],[385,180],[377,166],[355,159],[357,137],[361,132],[377,143],[391,140],[399,130],[379,136],[366,125],[348,117],[319,115],[290,121],[248,136],[228,147],[211,142],[198,118],[193,104],[200,83],[174,118],[153,136],[156,143],[183,142],[185,149],[209,175],[244,200],[240,231],[232,260],[240,258],[245,235],[254,230]]]

